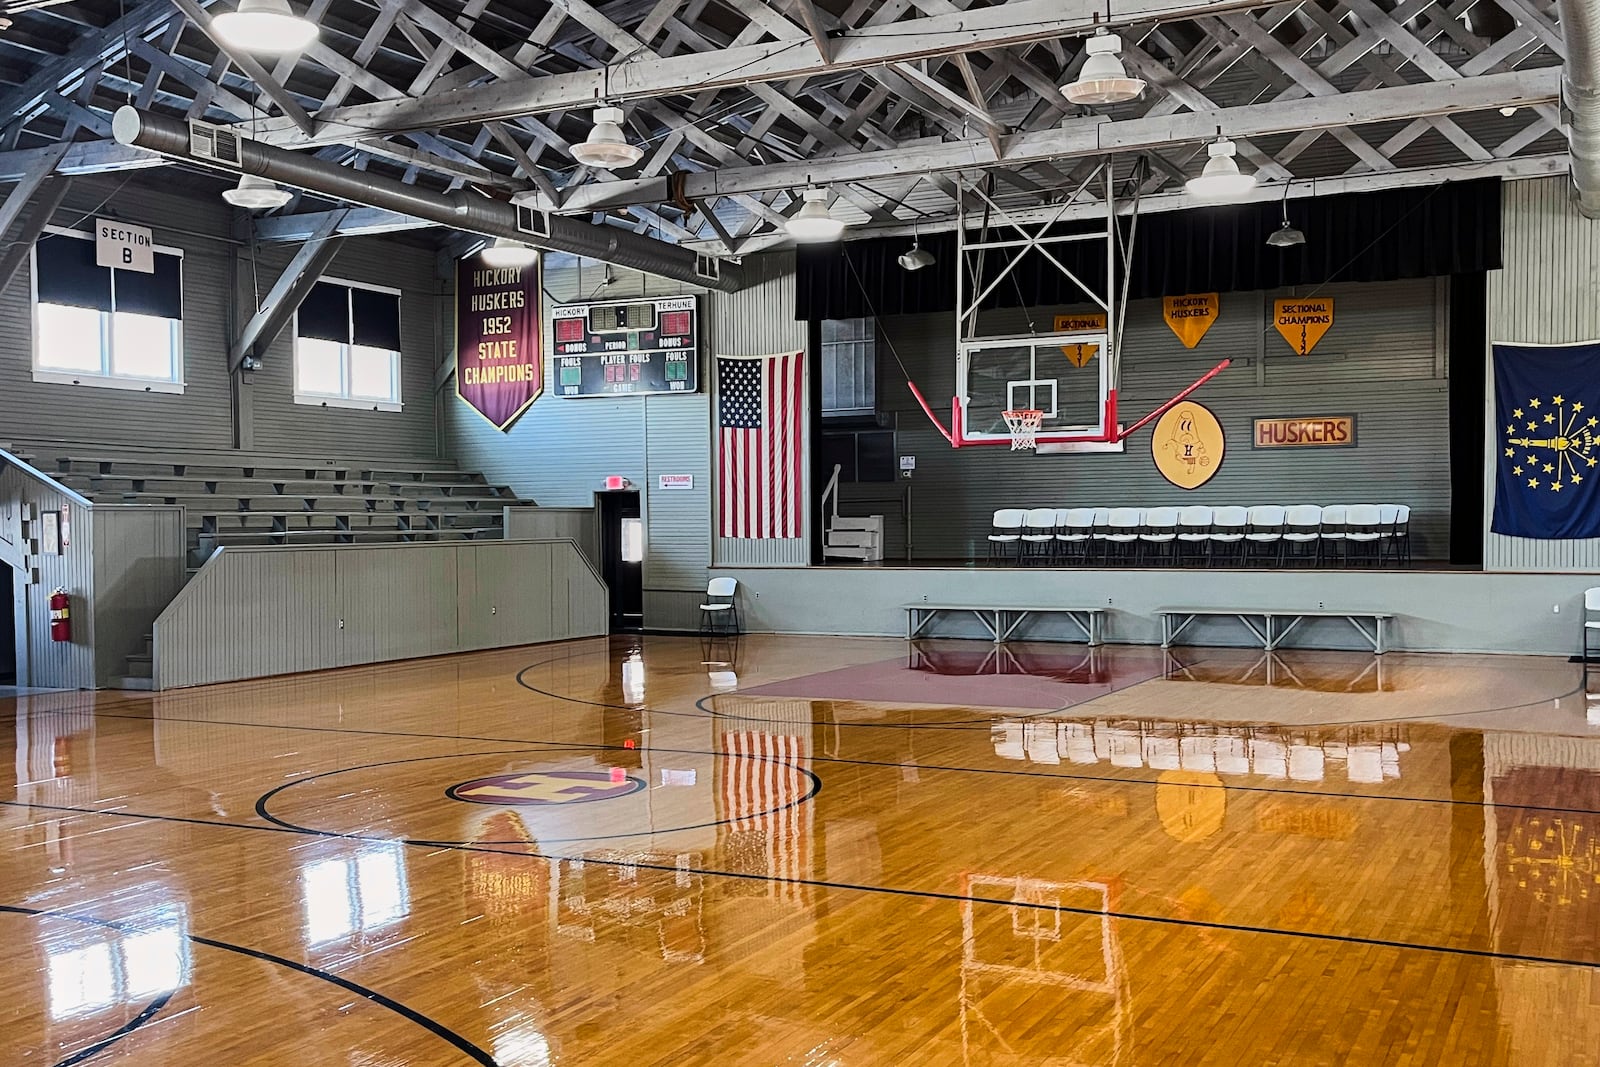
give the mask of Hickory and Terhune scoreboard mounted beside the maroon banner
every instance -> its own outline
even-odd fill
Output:
[[[557,397],[699,390],[699,298],[659,296],[550,310]]]

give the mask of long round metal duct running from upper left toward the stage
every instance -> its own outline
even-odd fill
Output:
[[[232,130],[222,128],[232,134]],[[237,163],[197,155],[190,147],[189,123],[154,115],[136,107],[120,107],[112,118],[112,136],[173,160],[206,166],[227,174],[258,174],[285,186],[336,197],[350,203],[397,211],[485,237],[506,237],[546,251],[587,256],[619,267],[643,270],[674,282],[736,293],[744,272],[733,262],[709,262],[693,250],[666,245],[614,226],[594,226],[563,216],[549,216],[549,232],[530,234],[517,226],[517,208],[466,190],[429,192],[392,178],[381,178],[326,163],[302,152],[290,152],[250,138],[237,138]],[[232,149],[232,146],[229,146]]]

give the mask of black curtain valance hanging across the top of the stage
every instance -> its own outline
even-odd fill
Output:
[[[1130,296],[1240,293],[1326,282],[1392,282],[1496,270],[1501,266],[1501,182],[1498,178],[1429,189],[1310,197],[1288,202],[1290,221],[1306,232],[1299,248],[1269,248],[1278,203],[1224,205],[1147,214],[1138,221]],[[1126,240],[1131,221],[1122,219]],[[1090,234],[1104,224],[1072,224],[1062,234]],[[1014,235],[997,230],[995,235]],[[955,235],[928,234],[931,267],[902,270],[904,237],[840,245],[802,245],[795,318],[861,318],[955,310]],[[1085,285],[1106,286],[1102,242],[1051,245]],[[995,256],[989,278],[998,270]],[[1037,253],[984,301],[986,307],[1082,304],[1086,298]]]

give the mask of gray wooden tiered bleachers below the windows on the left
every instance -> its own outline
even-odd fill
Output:
[[[493,539],[515,494],[448,459],[330,461],[27,445],[96,502],[184,509],[189,569],[222,545]]]

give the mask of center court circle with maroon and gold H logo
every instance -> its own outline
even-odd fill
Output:
[[[738,811],[725,811],[725,800],[715,792],[717,781],[725,776],[722,769],[702,768],[693,785],[650,790],[650,777],[635,773],[613,781],[616,771],[571,766],[595,755],[605,760],[603,752],[576,747],[496,749],[346,766],[267,790],[256,800],[256,814],[286,830],[325,837],[526,848],[534,841],[546,846],[630,840],[746,822],[810,803],[822,789],[822,779],[795,761],[746,753],[677,753],[765,766],[758,777],[766,782],[762,790],[766,803],[758,809],[741,805]],[[741,779],[750,774],[733,773]],[[592,803],[597,800],[606,803]],[[504,821],[483,822],[472,814],[464,819],[474,808],[485,814],[496,808],[523,813],[528,837],[475,835],[467,821],[477,822],[480,830]]]

